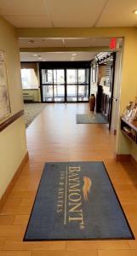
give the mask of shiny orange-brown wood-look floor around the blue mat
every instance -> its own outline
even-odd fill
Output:
[[[103,160],[137,237],[137,170],[115,160],[115,137],[107,125],[76,124],[88,103],[49,104],[26,130],[30,160],[0,212],[0,256],[137,256],[137,240],[23,242],[46,161]]]

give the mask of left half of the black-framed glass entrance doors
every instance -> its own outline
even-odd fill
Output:
[[[65,70],[42,69],[43,102],[65,102]]]

